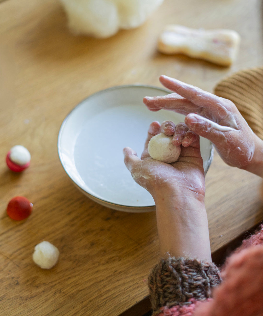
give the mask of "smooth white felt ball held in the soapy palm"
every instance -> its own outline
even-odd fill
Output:
[[[163,133],[155,135],[148,144],[149,155],[155,160],[166,163],[177,161],[181,146],[174,146],[171,141],[172,136],[166,136]]]

